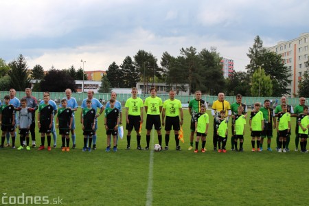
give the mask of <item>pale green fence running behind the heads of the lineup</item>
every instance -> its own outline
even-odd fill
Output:
[[[0,98],[3,100],[4,95],[8,95],[8,91],[0,91]],[[37,99],[37,100],[43,100],[43,92],[32,92],[32,95]],[[145,100],[150,94],[138,94],[137,96],[141,98],[142,100]],[[17,91],[16,92],[16,98],[23,98],[25,96],[24,91]],[[82,102],[84,98],[87,98],[87,93],[72,93],[72,96],[76,98],[78,102]],[[117,100],[119,102],[126,102],[128,98],[131,97],[130,93],[118,93],[117,94]],[[168,99],[168,94],[158,94],[158,97],[161,98],[163,101]],[[50,98],[52,100],[61,100],[62,98],[65,98],[65,93],[64,92],[51,92],[50,93]],[[102,99],[103,102],[108,101],[111,98],[110,93],[95,93],[94,98],[97,98],[98,100]],[[183,104],[186,104],[188,101],[194,99],[194,94],[192,95],[176,95],[176,98],[178,100],[181,100]],[[209,105],[211,105],[214,101],[218,100],[217,96],[213,95],[203,95],[202,96],[203,100],[208,102]],[[235,96],[226,96],[225,100],[229,101],[230,103],[236,102],[236,97]],[[280,104],[280,98],[275,98],[275,97],[243,97],[242,102],[244,104],[247,104],[248,106],[254,104],[255,102],[260,102],[264,103],[264,100],[270,100],[272,105],[273,104]],[[288,104],[291,104],[293,106],[299,104],[299,98],[287,98]],[[308,105],[308,100],[306,101],[306,104]]]

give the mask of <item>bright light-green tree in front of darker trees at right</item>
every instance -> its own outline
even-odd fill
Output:
[[[264,69],[259,68],[253,73],[251,80],[251,95],[253,97],[269,97],[273,93],[271,77],[266,76]]]

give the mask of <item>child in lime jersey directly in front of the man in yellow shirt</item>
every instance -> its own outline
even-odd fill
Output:
[[[225,111],[220,111],[220,117],[216,117],[216,133],[218,135],[218,152],[227,152],[225,146],[227,144],[227,119],[225,119]],[[222,147],[220,145],[222,143]]]

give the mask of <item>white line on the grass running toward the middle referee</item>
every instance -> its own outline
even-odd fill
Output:
[[[152,139],[151,144],[149,145],[150,155],[149,155],[149,173],[148,173],[148,187],[147,187],[147,201],[146,205],[151,206],[152,205],[152,182],[153,182],[153,149],[152,145],[155,141],[155,129],[152,128]]]

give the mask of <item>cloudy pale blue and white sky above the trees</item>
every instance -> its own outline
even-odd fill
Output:
[[[0,58],[23,54],[30,69],[45,70],[84,60],[89,71],[121,65],[139,49],[160,60],[181,47],[216,47],[240,71],[256,35],[273,46],[309,32],[308,8],[290,0],[0,0]]]

